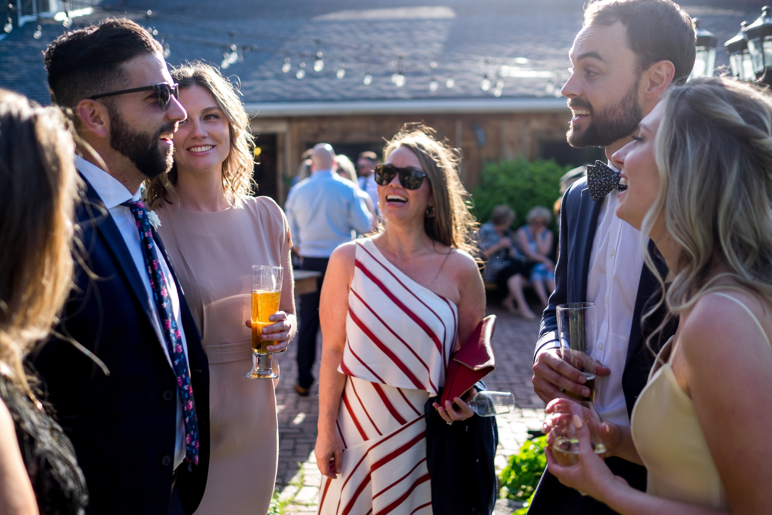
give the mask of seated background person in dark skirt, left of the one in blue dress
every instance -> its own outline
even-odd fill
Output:
[[[479,229],[480,256],[486,260],[486,281],[496,283],[501,290],[506,290],[506,297],[501,301],[510,313],[519,312],[523,318],[533,319],[536,315],[528,307],[523,296],[523,285],[530,274],[530,263],[520,256],[513,255],[513,235],[510,226],[515,219],[515,212],[509,205],[499,204],[493,208],[490,220]],[[513,305],[517,303],[517,310]]]

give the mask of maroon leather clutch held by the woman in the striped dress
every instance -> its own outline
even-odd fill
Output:
[[[445,406],[445,401],[452,402],[454,398],[461,397],[496,368],[496,358],[493,357],[490,344],[495,328],[496,315],[483,318],[463,346],[450,357],[439,405]]]

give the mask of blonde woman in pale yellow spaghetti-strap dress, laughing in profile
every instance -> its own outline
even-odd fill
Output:
[[[611,455],[646,467],[647,490],[611,473],[578,416],[579,463],[547,451],[548,467],[622,515],[772,513],[772,99],[693,80],[670,90],[634,140],[611,156],[628,184],[616,214],[662,252],[679,327],[631,426],[600,434]],[[567,402],[550,402],[550,422]]]

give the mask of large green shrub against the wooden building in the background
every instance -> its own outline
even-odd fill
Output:
[[[550,212],[560,198],[560,177],[571,165],[560,166],[552,159],[537,161],[499,161],[486,164],[472,191],[477,219],[490,219],[493,206],[509,204],[516,212],[513,227],[526,222],[526,215],[535,205],[543,205]]]

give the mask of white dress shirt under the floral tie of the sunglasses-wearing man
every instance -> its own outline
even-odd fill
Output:
[[[137,229],[137,222],[134,220],[134,215],[131,214],[129,208],[121,205],[124,202],[132,200],[137,202],[141,200],[140,191],[131,194],[127,190],[126,186],[122,185],[120,181],[114,178],[112,175],[103,171],[96,164],[90,163],[79,155],[75,156],[75,167],[83,174],[83,177],[89,181],[94,191],[97,191],[97,195],[100,196],[105,207],[110,212],[110,216],[113,217],[113,222],[118,226],[120,235],[124,237],[124,242],[129,249],[131,259],[134,261],[134,265],[137,266],[137,272],[139,272],[144,290],[147,293],[147,303],[151,306],[152,310],[157,317],[157,327],[163,327],[161,325],[161,317],[158,315],[155,301],[153,300],[153,289],[150,285],[150,277],[147,276],[147,268],[144,265],[144,255],[142,253],[142,247],[140,243],[140,232]],[[182,348],[185,351],[185,359],[188,359],[188,343],[185,341],[185,330],[182,328],[182,319],[180,312],[180,297],[177,292],[177,286],[172,280],[171,270],[168,263],[166,263],[166,256],[163,256],[160,249],[158,249],[158,257],[161,263],[161,270],[164,272],[164,276],[167,277],[169,297],[171,298],[171,310],[174,313],[174,318],[177,320],[177,327],[180,330],[182,339]],[[163,335],[159,335],[162,337]],[[164,351],[169,366],[174,371],[174,366],[171,364],[171,357],[169,357],[169,351],[166,347],[166,341],[159,341],[161,349]],[[188,370],[190,369],[190,362],[188,361]],[[176,374],[176,372],[175,372]],[[195,392],[193,394],[195,396]],[[174,443],[174,468],[176,469],[180,463],[185,459],[185,420],[182,416],[182,400],[180,398],[180,392],[177,391],[177,433],[176,441]]]

